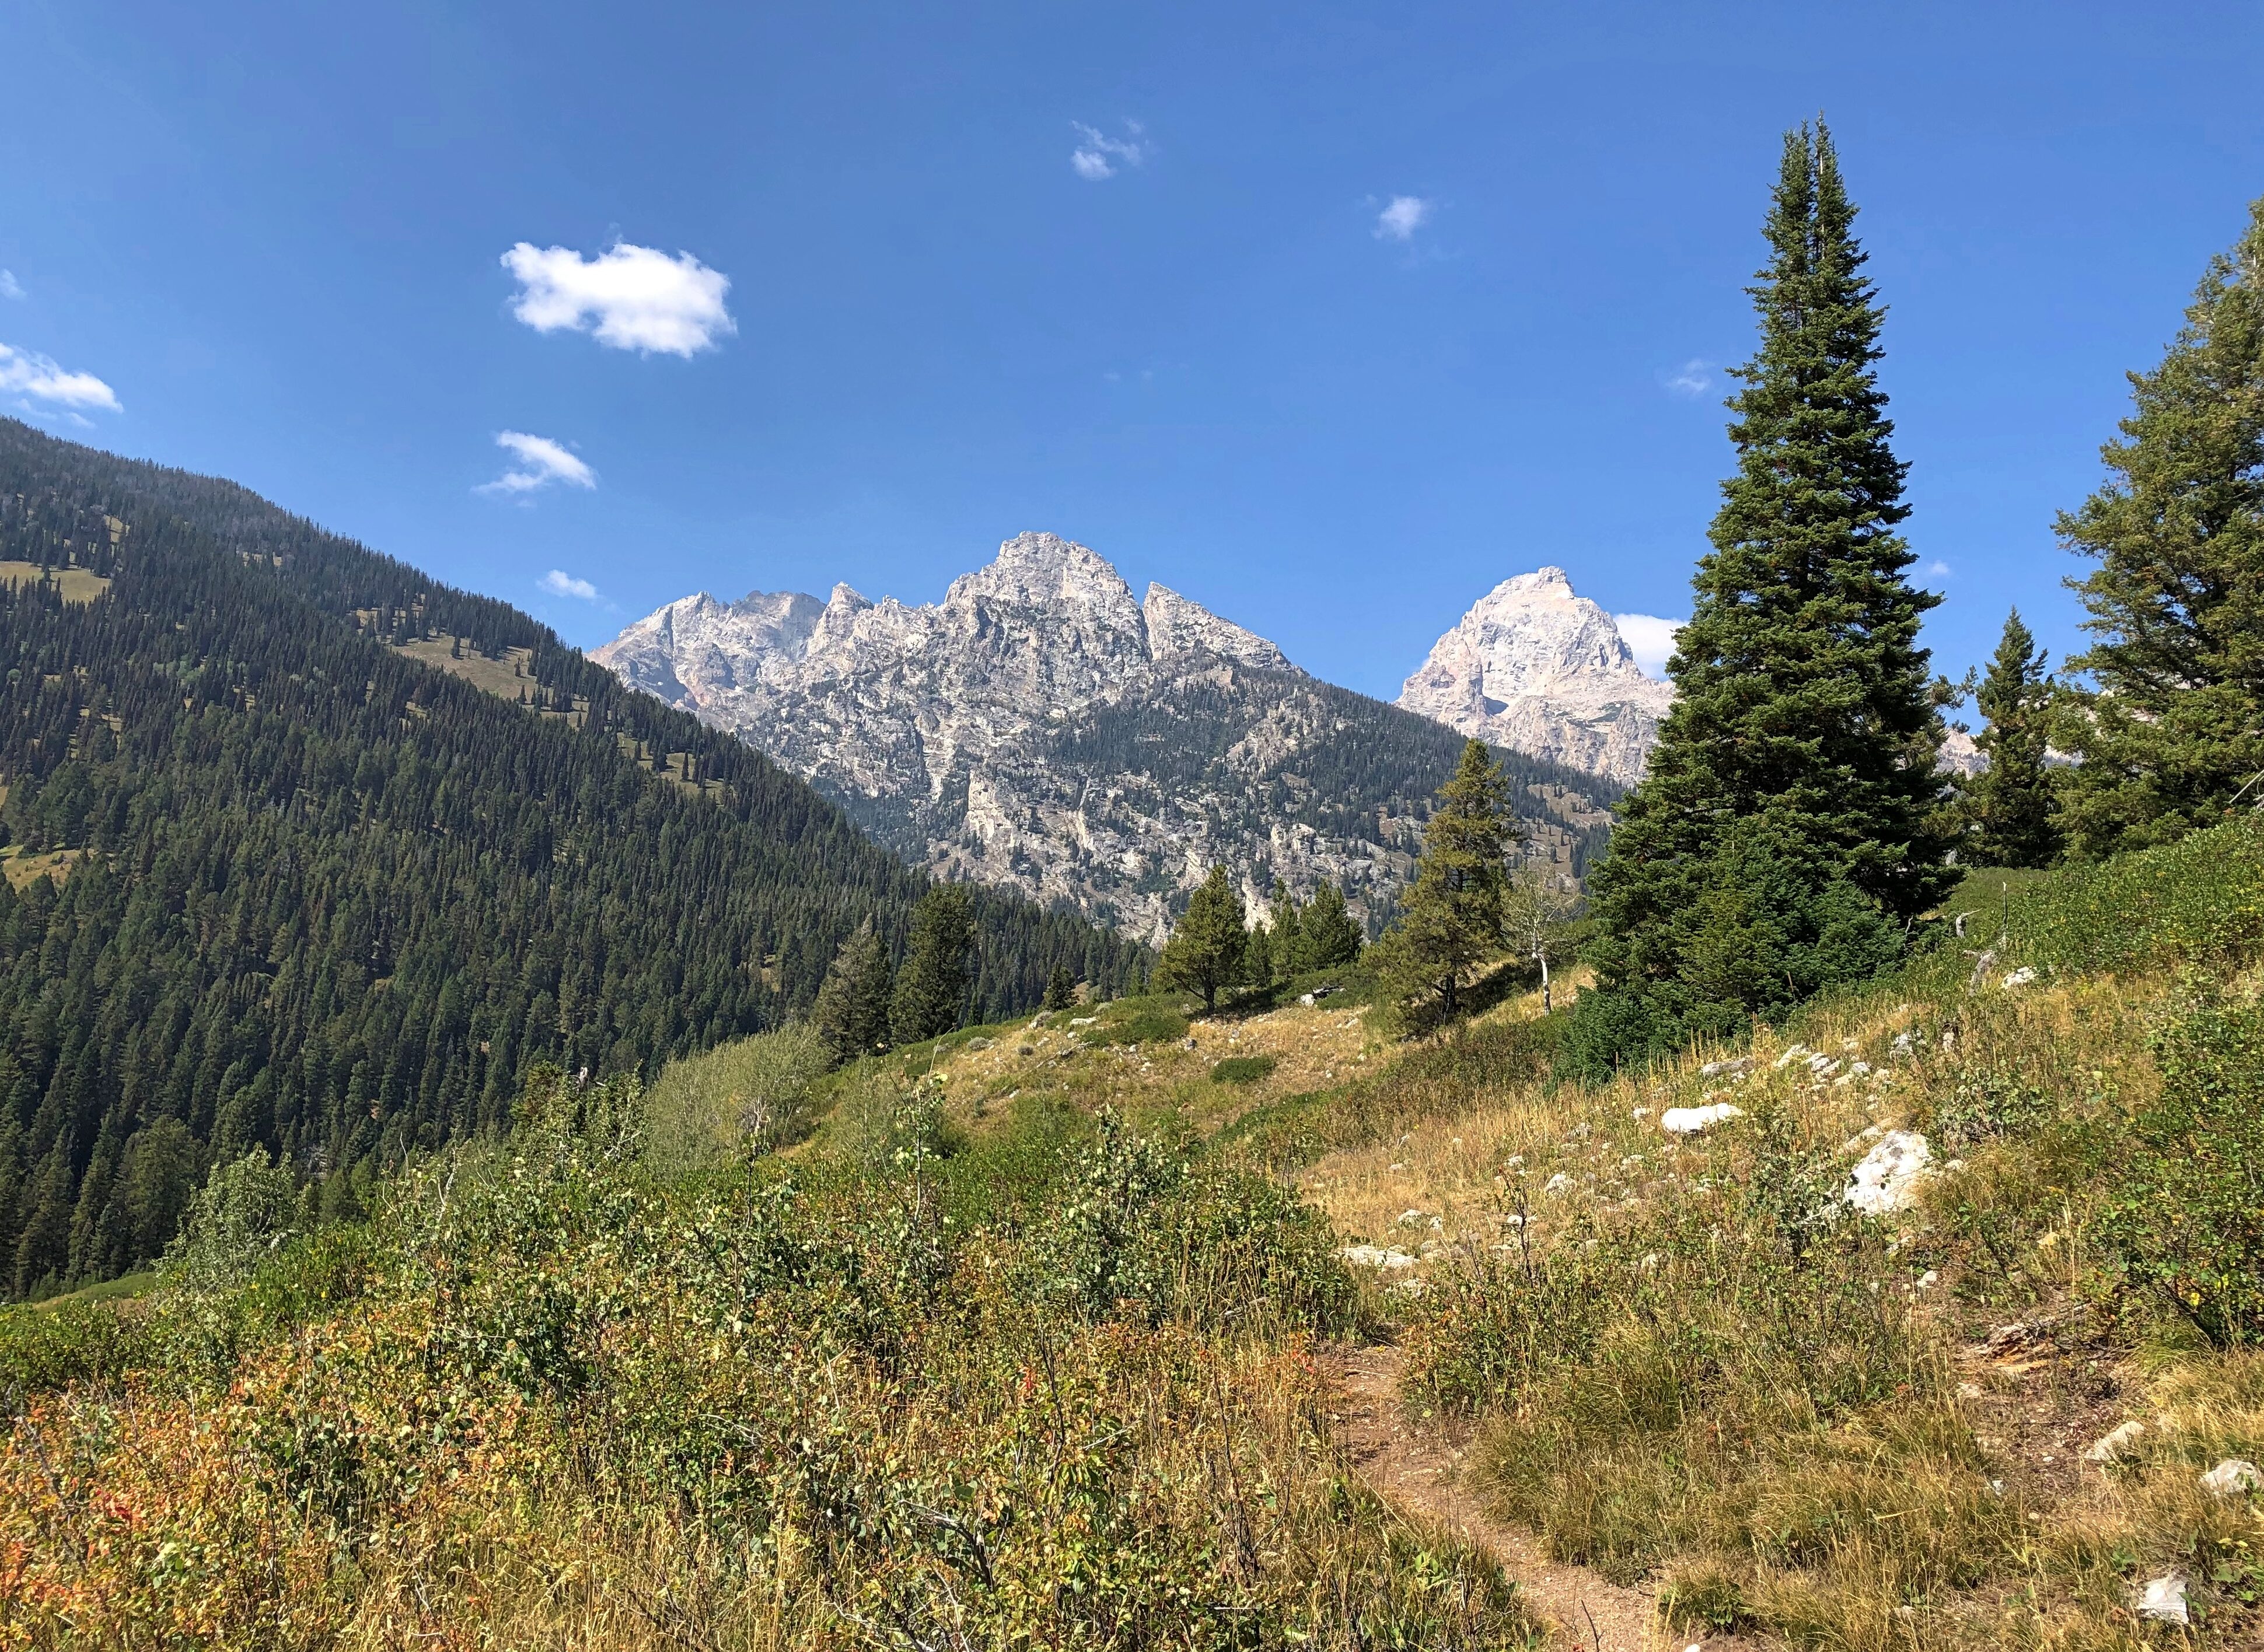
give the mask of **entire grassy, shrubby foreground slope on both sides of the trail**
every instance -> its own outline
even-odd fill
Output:
[[[2248,1645],[2264,833],[1956,912],[1603,1089],[1530,998],[1424,1046],[1150,998],[546,1079],[365,1224],[245,1172],[152,1294],[0,1315],[0,1634],[1526,1643],[1336,1437],[1327,1346],[1392,1337],[1410,1426],[1664,1645]]]

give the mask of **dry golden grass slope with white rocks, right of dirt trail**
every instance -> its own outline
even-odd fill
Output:
[[[1306,1186],[1426,1251],[1406,1399],[1476,1428],[1492,1509],[1678,1638],[2253,1645],[2264,833],[1949,912],[1750,1048],[1478,1084]],[[1739,1113],[1662,1129],[1700,1107]],[[1856,1208],[1911,1136],[1906,1206]]]

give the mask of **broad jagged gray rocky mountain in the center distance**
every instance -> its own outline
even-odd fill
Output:
[[[1261,905],[1327,878],[1381,917],[1460,740],[1315,681],[1084,545],[1021,534],[937,604],[684,597],[593,654],[738,733],[949,876],[1157,939],[1214,862]],[[1571,864],[1610,792],[1528,765],[1519,806]]]

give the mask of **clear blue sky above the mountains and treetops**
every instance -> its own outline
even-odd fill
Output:
[[[2051,514],[2264,195],[2257,5],[0,0],[0,405],[584,645],[1030,527],[1386,697],[1540,563],[1680,616],[1823,109],[1938,663],[2008,602],[2058,652]]]

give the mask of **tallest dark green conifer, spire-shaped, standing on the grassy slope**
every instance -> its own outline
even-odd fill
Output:
[[[1802,926],[1841,923],[1854,898],[1899,930],[1952,878],[1933,772],[1943,729],[1918,647],[1920,618],[1940,597],[1906,579],[1913,554],[1895,532],[1909,516],[1904,466],[1875,373],[1884,312],[1852,231],[1829,131],[1786,134],[1770,260],[1750,290],[1761,344],[1730,401],[1739,468],[1669,663],[1675,708],[1592,880],[1598,973],[1621,993],[1666,989],[1653,1005],[1666,1021],[1635,1016],[1662,1039],[1680,1036],[1675,1016],[1716,1003],[1700,975],[1748,982],[1718,1000],[1732,1018],[1793,991],[1780,973],[1759,993],[1768,969],[1696,966],[1689,948],[1705,932],[1757,932],[1725,912],[1714,930],[1700,921],[1725,880],[1757,898],[1802,892],[1768,917],[1791,926],[1782,946],[1802,960],[1868,962],[1877,926],[1847,948]],[[1623,1027],[1630,1012],[1585,1014],[1592,1027]]]

